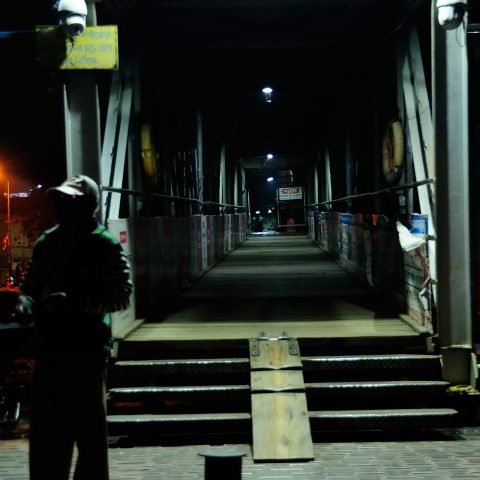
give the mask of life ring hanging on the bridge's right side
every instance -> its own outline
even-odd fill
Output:
[[[402,124],[391,120],[383,135],[383,175],[389,184],[396,183],[403,172],[403,157],[405,140]]]

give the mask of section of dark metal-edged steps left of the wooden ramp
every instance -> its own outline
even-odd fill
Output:
[[[248,443],[249,375],[248,342],[121,344],[109,374],[109,435],[121,445]]]

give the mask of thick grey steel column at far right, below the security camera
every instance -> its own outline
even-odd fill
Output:
[[[469,384],[472,338],[466,25],[443,29],[433,2],[432,36],[438,334],[445,379]]]

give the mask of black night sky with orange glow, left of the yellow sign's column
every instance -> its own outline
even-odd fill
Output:
[[[51,2],[10,2],[0,31],[0,185],[4,175],[11,191],[65,176],[62,73],[41,69],[35,61],[36,24],[52,24]],[[2,190],[0,186],[0,191]]]

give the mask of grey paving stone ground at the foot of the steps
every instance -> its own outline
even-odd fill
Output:
[[[480,479],[480,428],[442,431],[417,438],[348,438],[314,445],[315,460],[254,463],[246,444],[180,447],[112,447],[111,480],[203,479],[206,450],[246,453],[242,480],[471,480]],[[0,480],[28,479],[28,440],[0,440]],[[228,474],[225,480],[229,480]]]

